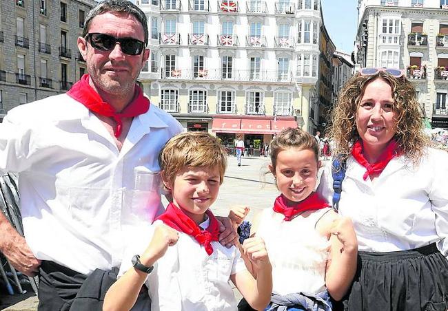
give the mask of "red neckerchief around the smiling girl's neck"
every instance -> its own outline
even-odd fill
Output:
[[[285,219],[283,219],[285,222],[294,219],[294,216],[298,213],[325,207],[329,207],[329,205],[316,192],[310,194],[305,200],[297,202],[294,206],[287,206],[287,198],[283,194],[278,195],[274,202],[274,212],[283,214],[285,216]]]

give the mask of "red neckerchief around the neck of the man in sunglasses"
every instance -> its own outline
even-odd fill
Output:
[[[121,134],[121,129],[123,127],[123,122],[121,118],[133,118],[134,116],[139,116],[140,114],[145,114],[148,109],[150,109],[150,100],[143,96],[143,92],[138,85],[135,85],[134,89],[134,99],[130,102],[125,109],[121,112],[116,112],[114,107],[109,103],[103,101],[101,96],[95,92],[94,89],[89,85],[88,74],[84,74],[77,83],[75,83],[67,95],[74,100],[79,101],[90,111],[99,114],[100,116],[106,116],[113,118],[116,122],[114,127],[114,136],[119,138]]]

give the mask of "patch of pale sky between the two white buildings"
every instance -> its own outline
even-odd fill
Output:
[[[351,54],[356,36],[356,0],[320,0],[325,28],[336,50]]]

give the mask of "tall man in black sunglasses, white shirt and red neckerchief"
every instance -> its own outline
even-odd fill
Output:
[[[0,215],[0,251],[40,275],[39,310],[101,310],[105,271],[163,208],[159,151],[183,129],[136,86],[147,40],[137,6],[100,2],[77,40],[88,74],[0,124],[0,171],[19,173],[26,235]]]

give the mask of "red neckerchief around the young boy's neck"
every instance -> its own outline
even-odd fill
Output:
[[[156,220],[161,220],[167,226],[191,235],[199,244],[204,246],[208,255],[212,255],[213,247],[210,242],[218,241],[219,222],[214,217],[212,211],[207,210],[205,213],[210,219],[210,224],[205,230],[202,230],[190,217],[181,211],[181,208],[178,208],[173,203],[168,204],[165,213],[156,217]]]

